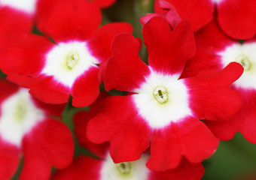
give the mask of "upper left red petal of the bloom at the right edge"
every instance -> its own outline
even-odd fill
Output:
[[[194,77],[204,70],[222,70],[222,60],[218,52],[224,51],[227,46],[237,43],[221,31],[215,20],[197,31],[195,34],[197,52],[193,59],[186,63],[183,77]]]

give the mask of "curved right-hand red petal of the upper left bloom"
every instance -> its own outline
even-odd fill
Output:
[[[111,43],[117,34],[133,32],[133,26],[128,23],[108,23],[99,28],[88,42],[94,56],[99,62],[105,62],[111,56]]]

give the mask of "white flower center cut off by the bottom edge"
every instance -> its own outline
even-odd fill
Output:
[[[114,163],[110,155],[105,158],[100,169],[101,180],[146,180],[150,173],[145,166],[148,154],[142,154],[139,160],[132,162]]]

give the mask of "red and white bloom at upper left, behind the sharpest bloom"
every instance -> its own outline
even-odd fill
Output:
[[[38,12],[41,12],[41,1]],[[50,15],[49,15],[50,14]],[[30,89],[44,103],[62,104],[72,95],[75,107],[85,107],[99,95],[99,64],[111,55],[111,40],[120,32],[132,32],[127,23],[101,22],[99,7],[84,0],[59,1],[42,16],[39,28],[52,43],[35,34],[19,34],[14,47],[1,55],[8,80]]]

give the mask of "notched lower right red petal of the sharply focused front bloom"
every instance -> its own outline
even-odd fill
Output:
[[[187,117],[154,133],[147,166],[155,171],[174,169],[181,162],[182,155],[191,163],[200,163],[210,157],[217,147],[218,139],[206,125],[197,118]]]

